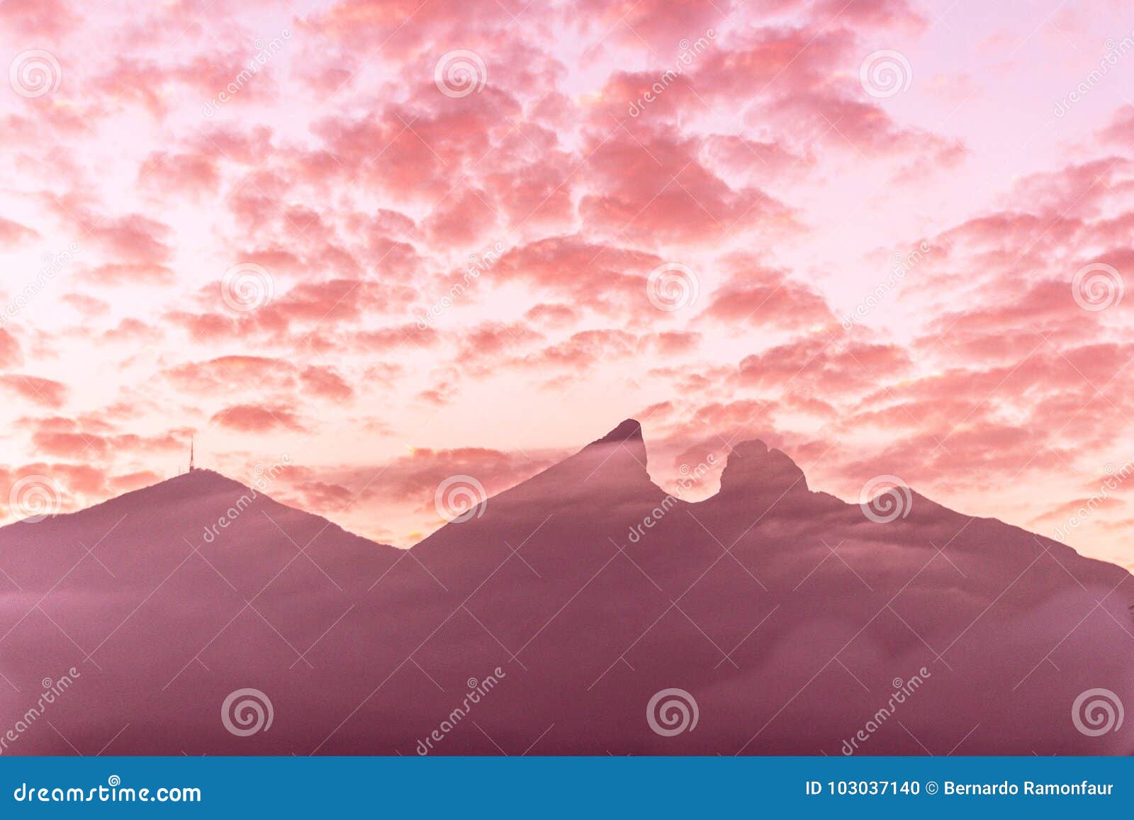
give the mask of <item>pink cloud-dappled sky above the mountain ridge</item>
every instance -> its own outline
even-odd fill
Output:
[[[7,0],[0,56],[7,521],[195,433],[408,546],[635,416],[663,487],[761,438],[1134,565],[1128,3]]]

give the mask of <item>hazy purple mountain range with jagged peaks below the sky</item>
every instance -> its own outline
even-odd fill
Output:
[[[209,471],[0,529],[2,752],[1132,751],[1124,569],[759,441],[703,501],[646,464],[624,422],[411,550]]]

